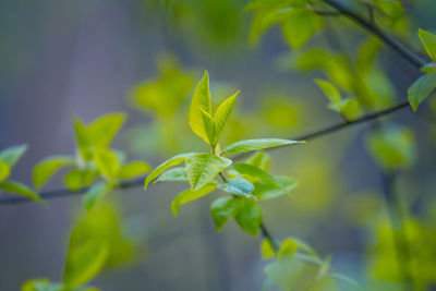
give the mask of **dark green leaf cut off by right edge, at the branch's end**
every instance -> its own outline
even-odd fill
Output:
[[[415,83],[410,86],[408,89],[408,99],[410,105],[413,108],[413,111],[416,111],[417,106],[424,101],[428,95],[436,88],[436,73],[425,74]]]

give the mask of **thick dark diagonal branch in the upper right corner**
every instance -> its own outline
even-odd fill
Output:
[[[415,68],[420,69],[421,66],[423,66],[424,64],[427,63],[427,61],[422,59],[420,56],[417,56],[413,51],[409,50],[397,39],[395,39],[393,37],[389,36],[385,32],[383,32],[377,25],[375,25],[371,21],[365,20],[363,16],[359,15],[358,13],[353,12],[351,9],[347,8],[340,1],[338,1],[338,0],[323,0],[323,1],[326,4],[330,5],[331,8],[336,9],[343,16],[355,22],[358,25],[360,25],[362,28],[364,28],[368,33],[380,38],[388,47],[390,47],[391,49],[397,51],[403,59],[408,60]]]

